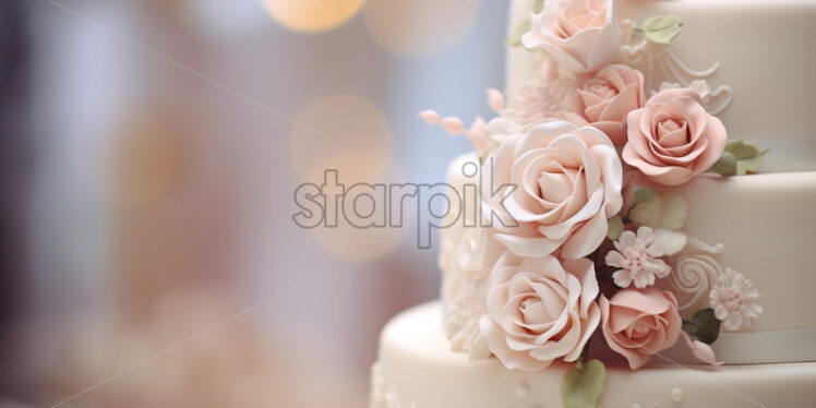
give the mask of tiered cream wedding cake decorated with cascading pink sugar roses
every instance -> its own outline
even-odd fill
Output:
[[[809,407],[816,2],[516,0],[372,408]],[[478,192],[470,194],[470,192]]]

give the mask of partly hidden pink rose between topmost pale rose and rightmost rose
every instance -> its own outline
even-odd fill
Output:
[[[583,107],[573,120],[600,129],[615,146],[623,146],[626,116],[646,104],[644,74],[628,65],[607,65],[585,81],[577,92]]]

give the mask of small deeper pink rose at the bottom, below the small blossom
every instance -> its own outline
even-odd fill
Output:
[[[599,303],[603,337],[612,350],[628,360],[632,370],[672,347],[680,336],[683,320],[670,291],[653,286],[623,289],[609,300],[601,296]]]

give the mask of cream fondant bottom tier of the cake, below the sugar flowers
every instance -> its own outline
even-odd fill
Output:
[[[449,350],[442,304],[418,305],[383,329],[372,369],[371,408],[556,408],[569,367],[528,373],[497,360],[470,362]],[[658,359],[657,357],[655,358]],[[812,407],[816,362],[704,365],[652,364],[638,371],[608,367],[603,408]]]

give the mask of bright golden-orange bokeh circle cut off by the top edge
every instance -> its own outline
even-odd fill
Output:
[[[336,28],[351,20],[365,0],[263,0],[269,14],[285,27],[300,33]]]

